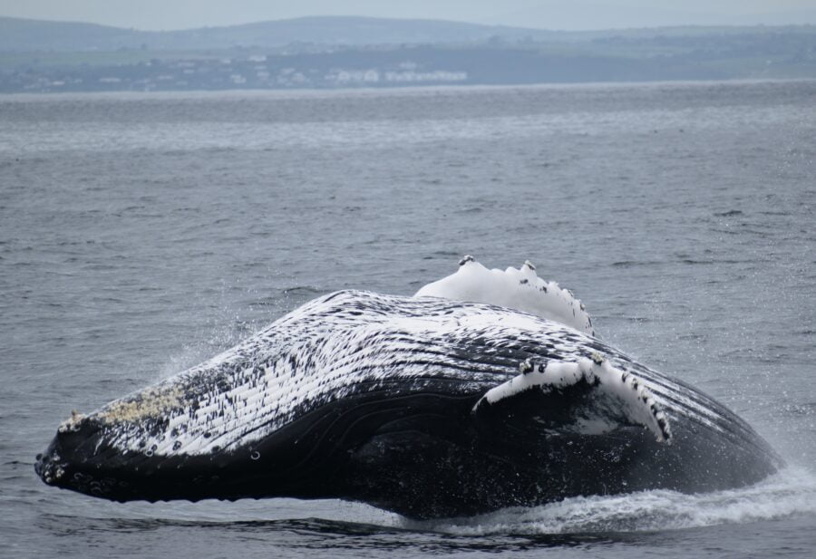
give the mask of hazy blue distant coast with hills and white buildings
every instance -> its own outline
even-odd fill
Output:
[[[816,78],[816,26],[559,32],[310,17],[180,32],[0,17],[0,92]]]

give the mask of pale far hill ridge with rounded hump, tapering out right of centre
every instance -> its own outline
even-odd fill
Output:
[[[115,51],[280,47],[291,43],[336,45],[469,43],[491,37],[545,40],[559,32],[438,20],[333,16],[202,27],[181,31],[139,31],[96,24],[0,17],[0,51]]]

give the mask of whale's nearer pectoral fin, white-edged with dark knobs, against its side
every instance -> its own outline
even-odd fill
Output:
[[[481,397],[472,410],[476,419],[501,417],[506,428],[545,435],[602,435],[642,426],[658,442],[671,443],[669,420],[646,386],[597,354],[538,366],[525,361],[521,371]]]

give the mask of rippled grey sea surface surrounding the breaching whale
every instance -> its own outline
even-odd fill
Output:
[[[71,410],[463,254],[531,260],[789,466],[433,522],[120,505],[34,475]],[[814,363],[816,82],[0,96],[3,557],[813,557]]]

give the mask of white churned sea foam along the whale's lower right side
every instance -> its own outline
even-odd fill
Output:
[[[816,514],[816,476],[788,467],[751,487],[685,495],[644,491],[581,496],[470,518],[405,521],[403,527],[456,535],[580,534],[675,530]]]

